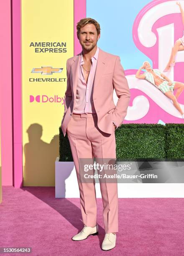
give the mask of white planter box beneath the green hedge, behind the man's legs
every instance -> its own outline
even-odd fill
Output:
[[[118,198],[184,197],[183,183],[118,183]],[[95,184],[97,198],[102,198],[100,184]],[[55,162],[55,197],[79,198],[74,162]]]

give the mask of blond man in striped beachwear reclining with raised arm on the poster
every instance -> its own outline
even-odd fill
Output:
[[[144,72],[144,74],[140,74],[141,69],[146,69],[146,72]],[[135,77],[138,79],[146,79],[148,82],[161,90],[166,97],[172,100],[174,107],[182,115],[182,118],[184,118],[184,112],[181,110],[181,107],[177,101],[177,98],[184,90],[183,83],[171,81],[168,77],[162,74],[159,69],[152,69],[148,61],[143,62],[143,66],[138,69]],[[173,94],[174,90],[177,90],[176,95]]]

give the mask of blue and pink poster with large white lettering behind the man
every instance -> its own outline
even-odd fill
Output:
[[[123,123],[184,123],[184,0],[115,1],[112,8],[106,6],[110,29],[102,26],[99,45],[119,55],[125,69],[131,100]]]

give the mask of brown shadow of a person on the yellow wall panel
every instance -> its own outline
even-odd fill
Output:
[[[50,143],[41,140],[42,126],[31,124],[27,129],[29,142],[24,146],[23,186],[55,186],[55,161],[59,156],[59,134]]]

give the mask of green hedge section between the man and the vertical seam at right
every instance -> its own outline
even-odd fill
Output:
[[[163,160],[166,158],[166,129],[160,124],[123,124],[117,129],[117,160]]]

